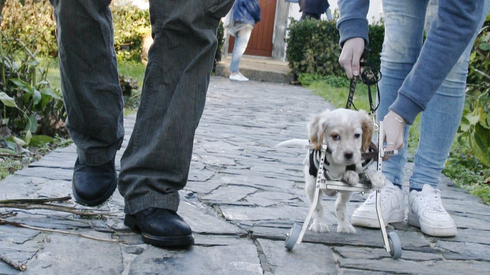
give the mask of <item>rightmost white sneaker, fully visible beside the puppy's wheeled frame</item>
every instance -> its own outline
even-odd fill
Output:
[[[439,189],[428,184],[423,185],[422,191],[412,190],[408,194],[407,221],[430,236],[456,235],[456,224],[442,206]]]

